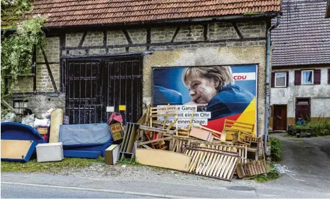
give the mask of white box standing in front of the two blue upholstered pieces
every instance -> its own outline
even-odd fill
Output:
[[[37,162],[54,162],[63,159],[62,142],[38,144],[35,148],[37,149]]]

